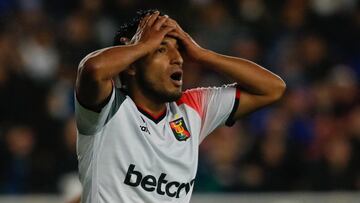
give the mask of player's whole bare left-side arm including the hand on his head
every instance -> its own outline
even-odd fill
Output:
[[[167,16],[146,16],[129,44],[95,51],[79,65],[76,96],[85,107],[100,111],[112,91],[112,79],[128,69],[136,60],[155,50],[173,27],[162,26]]]

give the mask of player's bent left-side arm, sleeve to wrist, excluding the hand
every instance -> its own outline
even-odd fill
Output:
[[[144,54],[142,46],[110,47],[86,56],[80,62],[76,78],[79,102],[91,110],[100,111],[111,94],[112,78]]]

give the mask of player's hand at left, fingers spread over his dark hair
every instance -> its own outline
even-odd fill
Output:
[[[145,16],[139,23],[138,29],[130,40],[130,44],[143,43],[148,52],[158,48],[165,35],[175,29],[173,25],[165,25],[169,19],[167,15],[159,16],[159,12]]]

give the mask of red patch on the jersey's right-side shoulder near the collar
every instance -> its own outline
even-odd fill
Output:
[[[192,89],[185,91],[181,98],[176,101],[176,104],[180,106],[181,104],[186,104],[187,106],[193,108],[200,116],[203,117],[203,94],[204,92],[201,89]]]

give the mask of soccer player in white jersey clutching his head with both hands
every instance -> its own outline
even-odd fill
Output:
[[[79,65],[83,203],[189,202],[201,141],[285,90],[282,79],[259,65],[200,47],[167,15],[139,15],[122,27],[115,46],[90,53]],[[184,59],[236,84],[183,92]]]

